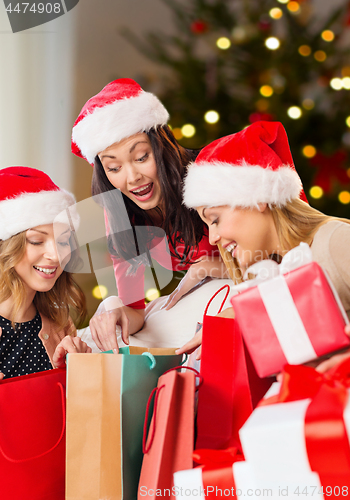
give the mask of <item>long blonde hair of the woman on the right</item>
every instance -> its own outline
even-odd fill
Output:
[[[325,215],[300,199],[292,200],[282,208],[272,206],[270,210],[282,253],[298,246],[302,241],[311,245],[318,229],[331,220],[350,224],[350,220]],[[237,259],[232,258],[221,245],[218,247],[231,279],[234,283],[241,283],[243,273]]]

